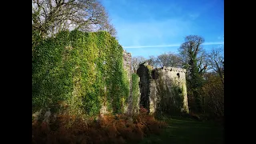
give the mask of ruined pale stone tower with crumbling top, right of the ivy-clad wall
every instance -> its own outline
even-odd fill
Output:
[[[174,111],[189,113],[186,93],[186,70],[174,67],[153,69],[142,63],[137,74],[140,77],[140,104],[150,113]]]

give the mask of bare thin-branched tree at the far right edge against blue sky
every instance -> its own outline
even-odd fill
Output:
[[[214,70],[224,84],[224,54],[223,49],[212,49],[208,54],[210,69]]]

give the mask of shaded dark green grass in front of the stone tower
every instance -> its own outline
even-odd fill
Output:
[[[188,118],[165,118],[168,126],[160,135],[144,138],[139,144],[222,144],[224,128],[214,122],[198,122]]]

